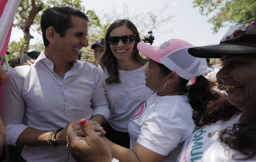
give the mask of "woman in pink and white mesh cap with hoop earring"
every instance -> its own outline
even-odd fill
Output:
[[[180,39],[158,47],[138,43],[139,51],[149,58],[143,69],[145,85],[156,93],[130,120],[130,150],[102,137],[114,158],[132,162],[177,160],[182,143],[195,128],[191,105],[206,107],[207,102],[202,101],[211,94],[209,82],[201,76],[207,71],[206,60],[190,55],[190,47],[194,46]],[[188,89],[192,77],[197,81]]]

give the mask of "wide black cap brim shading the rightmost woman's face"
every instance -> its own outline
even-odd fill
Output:
[[[189,54],[197,58],[221,58],[223,54],[256,54],[256,47],[224,43],[189,48]]]

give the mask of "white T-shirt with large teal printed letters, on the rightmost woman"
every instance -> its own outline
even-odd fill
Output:
[[[209,126],[204,126],[191,134],[191,136],[184,142],[177,162],[220,162],[217,160],[217,157],[221,157],[223,152],[221,149],[213,152],[211,148],[213,143],[220,143],[218,139],[218,132],[211,137],[208,137],[208,133],[214,132],[215,130],[225,130],[230,126],[233,126],[233,124],[239,121],[240,116],[241,114],[234,115],[229,121],[220,120],[216,123],[210,124]],[[215,157],[215,160],[212,157]],[[223,157],[219,159],[222,158]]]

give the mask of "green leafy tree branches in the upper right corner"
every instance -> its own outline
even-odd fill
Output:
[[[209,23],[214,25],[213,33],[220,28],[243,23],[256,17],[255,0],[193,0],[194,7],[199,7],[201,15],[211,16]]]

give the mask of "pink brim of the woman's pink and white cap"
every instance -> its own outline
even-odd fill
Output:
[[[159,58],[156,55],[155,49],[157,47],[154,47],[152,45],[148,45],[146,43],[142,43],[139,42],[137,45],[138,50],[145,56],[147,56],[148,58],[150,58],[151,60],[154,60],[155,62],[158,62],[159,64],[163,64]]]

